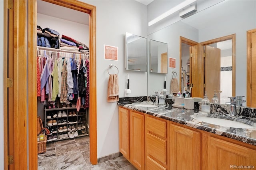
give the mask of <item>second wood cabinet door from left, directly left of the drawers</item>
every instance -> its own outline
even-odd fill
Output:
[[[130,161],[139,170],[145,169],[144,115],[130,111]]]

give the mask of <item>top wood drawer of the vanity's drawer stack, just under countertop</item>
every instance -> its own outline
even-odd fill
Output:
[[[166,138],[167,122],[161,121],[156,118],[146,117],[146,130],[147,132],[159,136],[160,138]]]

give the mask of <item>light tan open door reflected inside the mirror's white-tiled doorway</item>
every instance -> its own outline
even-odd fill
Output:
[[[214,96],[214,90],[220,90],[220,49],[216,47],[205,46],[204,57],[204,90],[207,91],[208,99]],[[220,99],[219,99],[220,101]]]

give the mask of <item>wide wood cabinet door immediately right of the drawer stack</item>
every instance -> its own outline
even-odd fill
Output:
[[[170,124],[170,170],[200,170],[201,134]]]

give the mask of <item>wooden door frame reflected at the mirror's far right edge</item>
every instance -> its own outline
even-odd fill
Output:
[[[246,105],[247,107],[251,107],[252,105],[252,89],[251,89],[251,84],[252,84],[252,53],[251,53],[251,43],[252,43],[252,33],[255,33],[256,29],[249,30],[246,32],[247,34],[247,85],[246,85]]]

